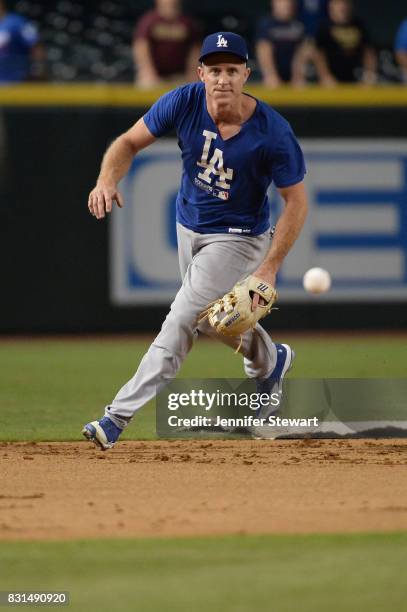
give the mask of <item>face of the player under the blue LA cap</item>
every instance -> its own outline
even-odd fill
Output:
[[[239,96],[250,74],[250,68],[235,55],[214,53],[198,67],[198,76],[206,94],[216,102],[230,103]]]

